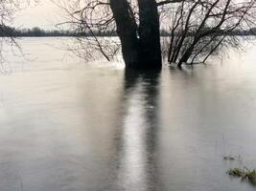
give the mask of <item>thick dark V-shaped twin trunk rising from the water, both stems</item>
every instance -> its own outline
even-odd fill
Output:
[[[127,68],[161,68],[159,15],[155,0],[138,0],[139,27],[127,0],[110,0]]]

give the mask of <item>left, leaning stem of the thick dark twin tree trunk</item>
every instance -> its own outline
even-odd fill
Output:
[[[121,40],[122,53],[128,68],[136,68],[139,64],[139,41],[135,20],[130,12],[127,0],[110,0],[110,8],[117,26],[117,34]]]

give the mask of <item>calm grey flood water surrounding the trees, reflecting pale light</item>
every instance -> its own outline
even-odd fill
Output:
[[[138,74],[62,40],[25,38],[2,66],[0,191],[256,189],[226,174],[256,168],[256,46]]]

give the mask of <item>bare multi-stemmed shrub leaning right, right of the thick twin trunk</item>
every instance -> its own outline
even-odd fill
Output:
[[[238,46],[234,31],[255,26],[255,0],[198,0],[183,2],[171,16],[168,61],[205,62],[221,47]]]

